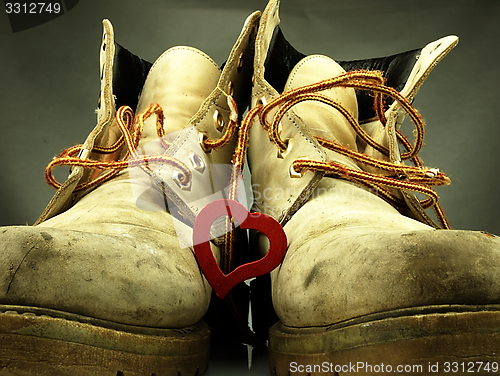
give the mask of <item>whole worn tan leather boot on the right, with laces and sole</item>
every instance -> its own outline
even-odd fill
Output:
[[[500,239],[436,229],[423,209],[447,227],[430,185],[448,179],[416,156],[410,102],[457,38],[337,63],[293,49],[278,7],[257,35],[248,149],[254,210],[288,237],[271,274],[271,373],[498,370]],[[406,114],[414,144],[399,131]],[[265,237],[257,244],[267,250]]]

